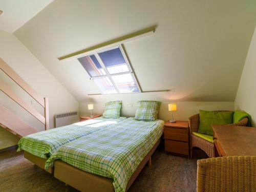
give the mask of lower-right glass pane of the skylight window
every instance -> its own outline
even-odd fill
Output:
[[[120,93],[139,92],[131,73],[111,76]]]

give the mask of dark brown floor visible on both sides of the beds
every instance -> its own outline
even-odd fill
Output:
[[[200,150],[195,158],[166,155],[159,146],[152,158],[152,169],[146,165],[129,192],[196,191],[197,159],[205,158]],[[0,191],[77,191],[55,179],[15,150],[0,153]]]

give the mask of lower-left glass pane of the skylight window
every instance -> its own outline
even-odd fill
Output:
[[[97,78],[97,79],[94,79],[94,81],[96,82],[97,86],[99,87],[100,91],[103,94],[117,93],[109,77]]]

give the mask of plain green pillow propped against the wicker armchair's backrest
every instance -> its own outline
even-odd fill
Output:
[[[213,135],[211,124],[230,124],[233,120],[233,112],[215,112],[199,110],[199,129],[198,133]]]

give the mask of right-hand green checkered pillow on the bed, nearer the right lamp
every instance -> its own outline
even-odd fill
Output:
[[[160,101],[138,101],[135,119],[144,121],[157,120],[160,105]]]

